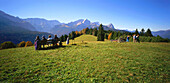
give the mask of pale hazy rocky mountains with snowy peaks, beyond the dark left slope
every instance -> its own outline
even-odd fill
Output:
[[[32,24],[37,31],[57,34],[58,36],[68,34],[72,31],[80,31],[86,27],[98,28],[99,22],[90,22],[88,19],[79,19],[70,23],[60,23],[57,20],[46,20],[40,18],[23,19]],[[113,24],[104,25],[105,30],[116,30]]]

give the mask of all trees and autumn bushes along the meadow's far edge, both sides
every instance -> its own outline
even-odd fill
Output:
[[[69,35],[65,34],[62,35],[61,37],[59,37],[59,40],[61,42],[64,42],[67,40],[67,37],[69,37],[69,39],[74,40],[74,38],[79,37],[80,35],[83,34],[90,34],[90,35],[94,35],[97,36],[97,41],[104,41],[104,39],[108,39],[108,40],[117,40],[118,38],[123,38],[126,39],[126,37],[129,35],[130,39],[129,41],[133,41],[132,35],[136,34],[136,35],[140,35],[139,40],[141,42],[170,42],[170,39],[168,38],[162,38],[159,35],[157,35],[156,37],[152,35],[152,32],[150,29],[147,29],[146,32],[144,29],[141,29],[141,31],[139,32],[138,29],[135,30],[135,32],[128,32],[128,31],[123,31],[123,30],[119,30],[119,31],[111,31],[111,30],[104,30],[103,25],[100,24],[100,26],[97,28],[84,28],[81,31],[72,31],[71,33],[69,33]],[[31,40],[31,39],[30,39]],[[13,44],[12,42],[4,42],[1,44],[1,49],[5,49],[5,48],[13,48],[13,47],[24,47],[25,45],[27,46],[27,44],[23,44],[24,41],[20,42],[18,45]],[[29,41],[28,43],[30,45],[33,45],[32,42]],[[22,43],[22,44],[21,44]],[[28,46],[29,46],[28,44]],[[4,48],[2,48],[4,46]]]

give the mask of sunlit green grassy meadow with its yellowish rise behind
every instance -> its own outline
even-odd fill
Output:
[[[93,40],[96,37],[83,35],[75,39],[77,45],[57,49],[0,50],[0,82],[170,81],[170,43]]]

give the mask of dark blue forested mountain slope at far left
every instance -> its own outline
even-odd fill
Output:
[[[38,32],[29,22],[0,11],[0,43],[4,41],[12,41],[15,44],[21,41],[34,42],[37,35],[48,36],[53,34]]]

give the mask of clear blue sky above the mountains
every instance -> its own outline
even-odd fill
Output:
[[[89,19],[116,29],[170,29],[170,0],[0,0],[0,10],[64,23]]]

